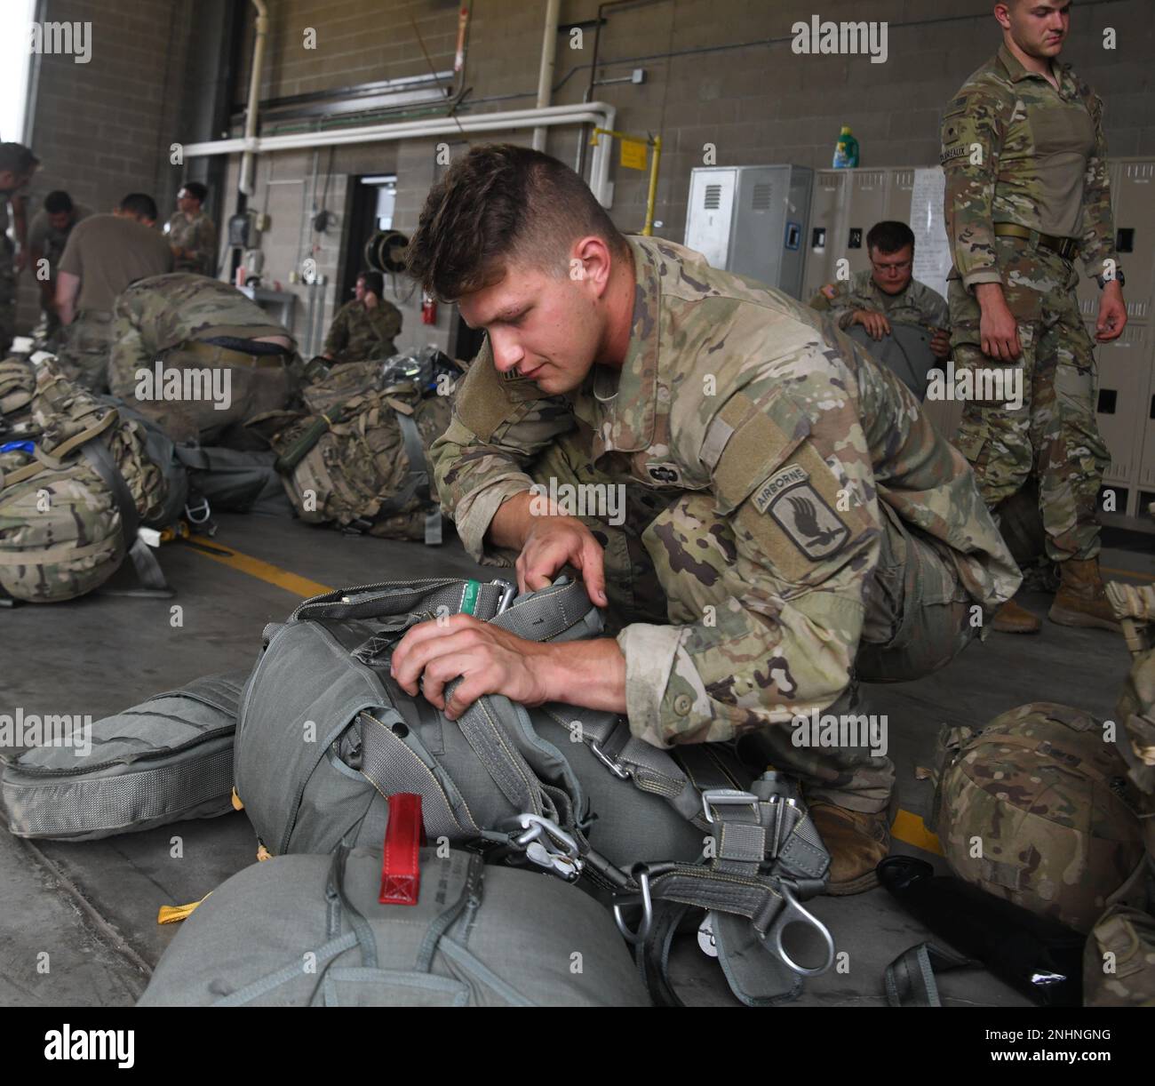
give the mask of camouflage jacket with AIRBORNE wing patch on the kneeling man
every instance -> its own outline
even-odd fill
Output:
[[[628,241],[638,287],[620,373],[594,366],[551,397],[502,380],[486,344],[431,452],[442,507],[489,564],[505,557],[485,541],[493,514],[571,431],[604,477],[671,503],[690,492],[723,518],[656,544],[670,551],[660,577],[675,624],[618,635],[635,735],[726,739],[840,697],[881,503],[942,541],[974,600],[1013,593],[1018,572],[970,470],[897,378],[841,333],[824,341],[821,317],[785,295],[672,243]],[[703,617],[702,586],[716,615]]]

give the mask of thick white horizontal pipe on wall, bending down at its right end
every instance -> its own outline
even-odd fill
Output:
[[[511,129],[553,127],[557,125],[596,125],[613,128],[617,106],[608,102],[551,105],[544,110],[508,110],[500,113],[479,113],[475,117],[448,117],[438,120],[398,121],[386,125],[366,125],[359,128],[328,132],[297,132],[288,135],[254,136],[245,139],[214,140],[207,143],[189,143],[185,157],[201,155],[236,155],[251,150],[255,154],[301,148],[334,147],[346,143],[383,143],[393,140],[416,140],[425,136],[460,135],[471,132],[507,132]],[[612,146],[602,140],[594,148],[590,165],[589,187],[603,207],[613,204],[613,186],[610,183],[610,157]]]

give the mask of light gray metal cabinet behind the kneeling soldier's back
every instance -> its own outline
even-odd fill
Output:
[[[686,245],[715,268],[799,297],[812,180],[806,166],[692,170]]]

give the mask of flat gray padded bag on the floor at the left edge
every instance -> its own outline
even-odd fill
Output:
[[[87,736],[6,759],[8,828],[18,838],[89,841],[228,813],[247,677],[195,679],[95,721]]]

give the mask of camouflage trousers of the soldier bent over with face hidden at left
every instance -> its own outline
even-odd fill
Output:
[[[143,400],[136,395],[135,370],[118,372],[110,364],[109,381],[112,393],[127,400],[142,415],[155,419],[174,441],[199,441],[201,445],[223,445],[234,449],[263,449],[268,444],[249,433],[244,423],[255,415],[277,411],[285,407],[293,388],[293,378],[284,365],[229,365],[200,352],[181,347],[163,351],[159,360],[164,371],[213,370],[228,371],[229,406],[217,410],[209,399],[211,382],[206,382],[206,396],[199,400]],[[264,356],[269,360],[276,356]],[[155,363],[148,369],[155,374]],[[209,374],[211,379],[211,374]]]

